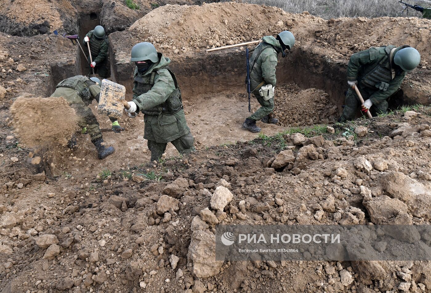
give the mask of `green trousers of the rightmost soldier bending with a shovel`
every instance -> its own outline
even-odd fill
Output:
[[[371,97],[371,95],[375,92],[375,90],[368,89],[368,88],[360,88],[359,90],[361,92],[362,97],[364,98],[364,101],[368,100],[369,97]],[[378,104],[373,104],[373,106],[371,106],[371,109],[370,109],[371,114],[373,116],[376,116],[378,114],[386,113],[388,106],[389,104],[387,103],[386,100],[381,101]],[[359,97],[356,94],[355,90],[353,90],[352,88],[349,88],[349,90],[347,90],[346,104],[343,109],[343,114],[340,117],[340,122],[346,122],[346,121],[355,119],[356,113],[358,112],[359,109],[361,109],[361,102],[359,101]],[[364,114],[365,113],[363,113],[362,115]]]

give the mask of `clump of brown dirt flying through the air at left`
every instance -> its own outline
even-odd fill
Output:
[[[65,145],[76,129],[75,110],[62,97],[18,97],[10,112],[20,142],[35,150]]]

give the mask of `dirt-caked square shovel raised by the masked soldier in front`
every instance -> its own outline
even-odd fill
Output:
[[[102,80],[97,111],[112,118],[120,118],[124,108],[130,109],[126,101],[126,88],[107,79]]]

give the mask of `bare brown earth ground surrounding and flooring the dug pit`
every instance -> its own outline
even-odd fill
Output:
[[[181,64],[217,42],[249,41],[290,28],[298,50],[342,67],[362,46],[408,42],[423,52],[423,59],[403,91],[412,100],[429,99],[428,20],[328,22],[239,3],[184,9],[162,6],[135,23],[138,28],[111,34],[111,57],[118,60],[136,41],[148,39]],[[175,21],[166,23],[166,15]],[[385,29],[390,22],[394,28]],[[122,37],[129,34],[134,37]],[[229,38],[221,40],[222,35]],[[58,67],[75,68],[76,49],[53,34],[0,34],[2,293],[431,292],[429,262],[216,262],[211,241],[200,241],[214,237],[216,223],[429,224],[428,107],[334,124],[328,132],[326,125],[314,127],[302,131],[304,137],[288,126],[330,123],[339,105],[321,89],[283,84],[276,115],[284,126],[258,122],[265,135],[253,140],[256,134],[240,128],[248,116],[244,93],[221,89],[185,95],[196,153],[178,157],[170,146],[163,160],[148,163],[142,117],[124,117],[120,123],[127,131],[103,132],[106,143],[116,147],[112,156],[98,160],[88,136],[79,134],[80,148],[76,153],[62,149],[56,165],[60,176],[49,178],[37,174],[41,170],[30,162],[32,150],[13,134],[9,107],[24,93],[50,94],[61,74]],[[109,129],[106,117],[97,118]],[[281,131],[286,132],[269,137]],[[287,156],[278,156],[281,151]],[[219,185],[233,199],[216,212],[209,201]],[[208,207],[212,216],[203,211]]]

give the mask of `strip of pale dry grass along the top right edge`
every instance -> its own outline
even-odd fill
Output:
[[[225,2],[212,1],[212,2]],[[208,2],[208,1],[207,1]],[[211,2],[211,1],[209,1]],[[308,11],[312,15],[320,16],[325,19],[331,17],[379,17],[379,16],[422,16],[414,9],[404,10],[405,5],[398,3],[397,0],[243,0],[266,6],[277,6],[287,12],[301,13]],[[403,2],[417,4],[422,7],[431,6],[430,1],[409,1]]]

